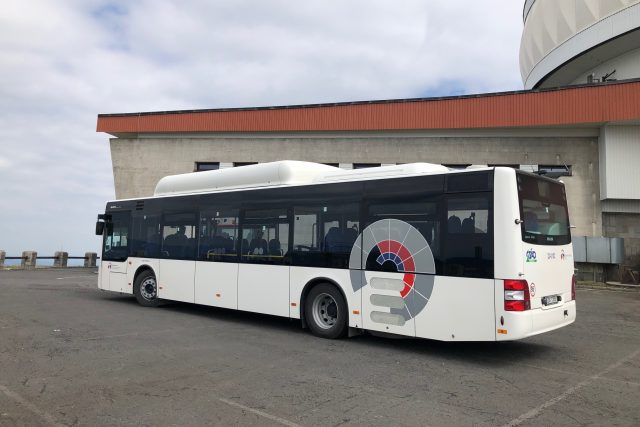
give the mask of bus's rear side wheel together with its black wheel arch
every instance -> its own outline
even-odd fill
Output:
[[[347,298],[342,288],[324,277],[309,281],[300,298],[302,326],[322,338],[341,338],[349,330]],[[329,313],[326,313],[326,309]]]

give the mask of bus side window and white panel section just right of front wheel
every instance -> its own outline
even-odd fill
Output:
[[[158,297],[194,302],[196,214],[165,214],[162,220]]]

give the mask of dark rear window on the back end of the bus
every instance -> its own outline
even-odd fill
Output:
[[[571,243],[564,185],[518,173],[522,240],[538,245]]]

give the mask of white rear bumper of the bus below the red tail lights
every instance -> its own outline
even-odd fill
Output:
[[[504,312],[504,325],[498,318],[497,341],[511,341],[553,331],[570,325],[576,320],[576,302],[567,301],[561,306],[525,312]],[[502,333],[500,333],[502,331]]]

